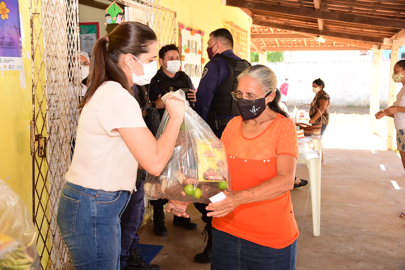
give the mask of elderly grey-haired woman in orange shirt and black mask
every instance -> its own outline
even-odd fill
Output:
[[[297,133],[276,89],[274,72],[255,65],[238,76],[232,92],[241,116],[221,138],[232,191],[206,208],[213,217],[211,269],[295,269],[299,232],[289,191]]]

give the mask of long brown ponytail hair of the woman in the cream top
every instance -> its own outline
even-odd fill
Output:
[[[83,108],[98,87],[107,81],[119,83],[133,95],[132,85],[128,84],[124,72],[118,65],[119,58],[128,53],[136,57],[148,53],[148,46],[157,40],[155,32],[139,22],[124,22],[111,33],[99,38],[91,56],[86,95],[78,108]]]

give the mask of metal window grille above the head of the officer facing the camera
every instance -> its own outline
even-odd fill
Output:
[[[158,36],[159,49],[167,44],[178,44],[176,36],[176,12],[159,7],[159,2],[148,1],[146,4],[146,24]]]

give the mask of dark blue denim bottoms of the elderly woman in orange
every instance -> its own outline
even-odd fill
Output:
[[[294,270],[297,240],[276,249],[255,244],[212,228],[211,270]]]

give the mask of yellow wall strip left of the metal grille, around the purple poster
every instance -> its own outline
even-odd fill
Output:
[[[22,57],[21,71],[0,71],[0,178],[32,209],[32,158],[30,153],[31,36],[29,6],[19,1]]]

